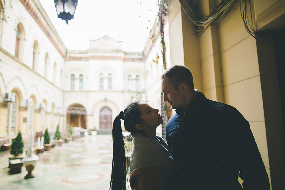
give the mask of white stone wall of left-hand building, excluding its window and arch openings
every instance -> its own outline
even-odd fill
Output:
[[[62,117],[63,109],[60,111],[58,110],[58,107],[63,108],[63,91],[60,88],[60,71],[64,71],[64,58],[19,0],[12,0],[9,1],[9,3],[5,2],[5,4],[2,2],[2,5],[4,5],[4,15],[2,16],[5,19],[0,21],[2,34],[0,37],[0,100],[3,100],[3,95],[5,95],[5,93],[13,91],[16,93],[17,99],[19,100],[17,102],[18,107],[25,107],[26,100],[28,98],[33,98],[34,109],[39,109],[40,103],[44,101],[46,103],[45,111],[47,112],[44,129],[49,128],[49,131],[52,131],[56,129],[57,124],[60,124],[60,129],[62,130],[62,123],[60,123],[59,120],[60,117]],[[45,19],[48,19],[48,17]],[[19,55],[19,59],[15,58],[18,23],[21,23],[24,28],[24,40],[20,47],[20,52],[22,53]],[[46,30],[49,30],[50,34],[52,34],[52,28],[46,28]],[[37,70],[32,69],[33,46],[35,40],[37,40],[39,45]],[[66,49],[64,46],[62,48]],[[49,56],[49,64],[47,67],[48,75],[44,77],[46,53],[48,53]],[[54,63],[56,63],[55,73]],[[50,114],[52,105],[54,110],[52,112],[53,114]],[[6,114],[1,115],[1,118],[4,119],[1,119],[0,122],[0,139],[8,138],[11,140],[11,138],[15,138],[18,130],[21,130],[22,134],[25,136],[28,131],[27,127],[29,122],[27,110],[17,110],[15,134],[10,134],[10,136],[7,136],[8,134],[6,131],[7,111]],[[60,113],[58,113],[58,111],[60,111]],[[33,114],[33,117],[36,117],[35,115],[36,114]],[[23,123],[23,117],[28,117],[27,123]],[[39,131],[41,129],[41,119],[33,118],[33,120],[34,131]]]

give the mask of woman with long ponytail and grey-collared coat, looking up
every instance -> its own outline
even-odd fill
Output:
[[[113,163],[110,190],[126,189],[126,156],[121,119],[131,133],[133,148],[130,160],[132,190],[170,189],[173,158],[166,142],[156,135],[156,127],[163,122],[158,109],[145,102],[131,103],[113,122]]]

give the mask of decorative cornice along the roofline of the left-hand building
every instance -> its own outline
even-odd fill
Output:
[[[33,4],[35,5],[36,3],[33,0],[20,0],[21,3],[24,5],[25,9],[28,11],[28,13],[30,13],[30,15],[32,16],[32,18],[36,21],[36,23],[38,24],[38,26],[40,26],[40,28],[42,29],[42,31],[44,32],[44,34],[46,34],[46,36],[48,37],[48,39],[50,40],[50,42],[52,42],[52,44],[54,45],[54,47],[56,48],[56,50],[58,50],[58,52],[60,53],[60,55],[62,56],[62,58],[66,57],[66,47],[62,47],[60,48],[59,44],[57,42],[59,42],[59,39],[55,39],[54,36],[52,36],[52,34],[54,33],[54,31],[50,30],[50,24],[46,23],[46,20],[41,18],[40,16],[43,16],[42,14],[38,14],[38,12],[42,12],[39,9],[35,9],[34,6],[32,6]],[[33,3],[31,3],[31,1]],[[36,6],[36,5],[35,5]],[[37,6],[37,8],[39,8]],[[47,15],[46,15],[47,16]],[[45,20],[45,21],[43,21]],[[56,30],[55,30],[56,32]],[[57,34],[57,32],[56,32]],[[57,34],[58,35],[58,34]],[[59,36],[58,36],[59,38]],[[62,40],[60,39],[60,41],[62,42]],[[62,42],[63,44],[63,42]],[[62,45],[61,44],[61,45]],[[63,44],[64,45],[64,44]]]

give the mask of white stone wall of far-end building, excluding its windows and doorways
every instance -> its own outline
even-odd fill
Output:
[[[133,87],[136,85],[135,78],[139,75],[140,90],[145,91],[144,62],[142,55],[138,53],[109,50],[112,46],[118,49],[118,43],[108,36],[90,40],[91,42],[91,48],[101,47],[101,50],[70,51],[69,60],[66,62],[64,99],[65,110],[74,103],[81,104],[87,112],[87,128],[99,130],[99,112],[103,107],[111,109],[112,120],[114,120],[120,111],[131,103],[131,93],[128,92],[128,75],[132,76]],[[93,59],[93,56],[99,57]],[[141,58],[141,61],[130,61],[127,58]],[[100,89],[101,73],[103,74],[103,89]],[[70,91],[72,74],[75,75],[74,91]],[[83,90],[79,90],[80,74],[83,75]],[[112,89],[108,89],[109,74],[112,75]],[[133,90],[136,89],[133,88]]]

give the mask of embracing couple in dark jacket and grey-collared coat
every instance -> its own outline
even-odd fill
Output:
[[[113,123],[110,189],[126,189],[121,119],[133,137],[133,190],[270,189],[249,122],[241,113],[194,89],[187,67],[173,66],[161,78],[164,101],[176,109],[166,126],[168,145],[156,135],[156,127],[163,122],[158,109],[143,102],[130,104]]]

